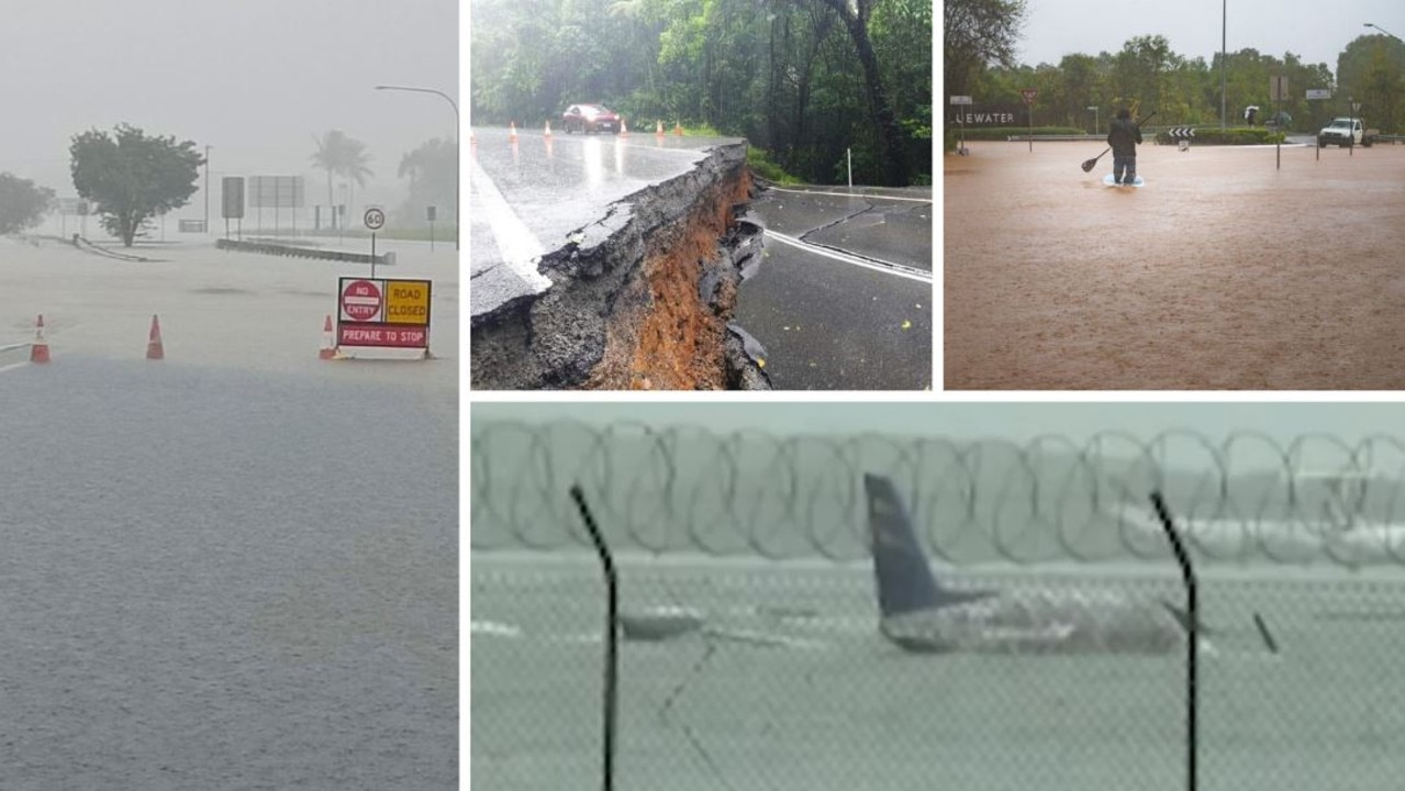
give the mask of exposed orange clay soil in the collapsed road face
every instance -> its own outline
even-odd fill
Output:
[[[642,318],[611,320],[606,354],[592,374],[596,389],[725,389],[726,318],[698,296],[702,261],[718,264],[718,240],[731,226],[733,204],[745,202],[750,171],[729,178],[680,223],[665,226],[648,240],[642,278],[631,289],[648,288]],[[724,281],[722,305],[731,315],[736,287]],[[634,302],[627,295],[620,301]],[[621,320],[622,319],[622,320]]]

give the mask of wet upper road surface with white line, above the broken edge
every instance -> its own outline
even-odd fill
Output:
[[[488,313],[549,282],[532,259],[606,218],[610,204],[690,171],[707,149],[736,138],[631,132],[551,138],[542,129],[475,129],[469,159],[472,315]]]

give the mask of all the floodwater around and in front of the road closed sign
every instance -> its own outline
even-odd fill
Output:
[[[319,360],[339,264],[0,244],[0,784],[457,787],[457,362]]]

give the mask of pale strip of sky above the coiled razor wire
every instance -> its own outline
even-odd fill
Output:
[[[1120,430],[1149,438],[1175,429],[1213,441],[1232,431],[1263,431],[1280,440],[1326,433],[1347,443],[1368,434],[1399,434],[1401,403],[475,403],[472,420],[708,426],[718,431],[757,429],[778,436],[857,434],[957,438],[1007,437],[1026,441],[1059,434],[1080,441]]]

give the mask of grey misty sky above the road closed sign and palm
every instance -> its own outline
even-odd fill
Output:
[[[382,190],[403,190],[403,153],[452,138],[443,98],[372,86],[457,100],[457,3],[4,0],[0,65],[0,171],[73,195],[70,138],[129,122],[214,146],[212,178],[308,176],[311,204],[313,135],[365,142]]]

